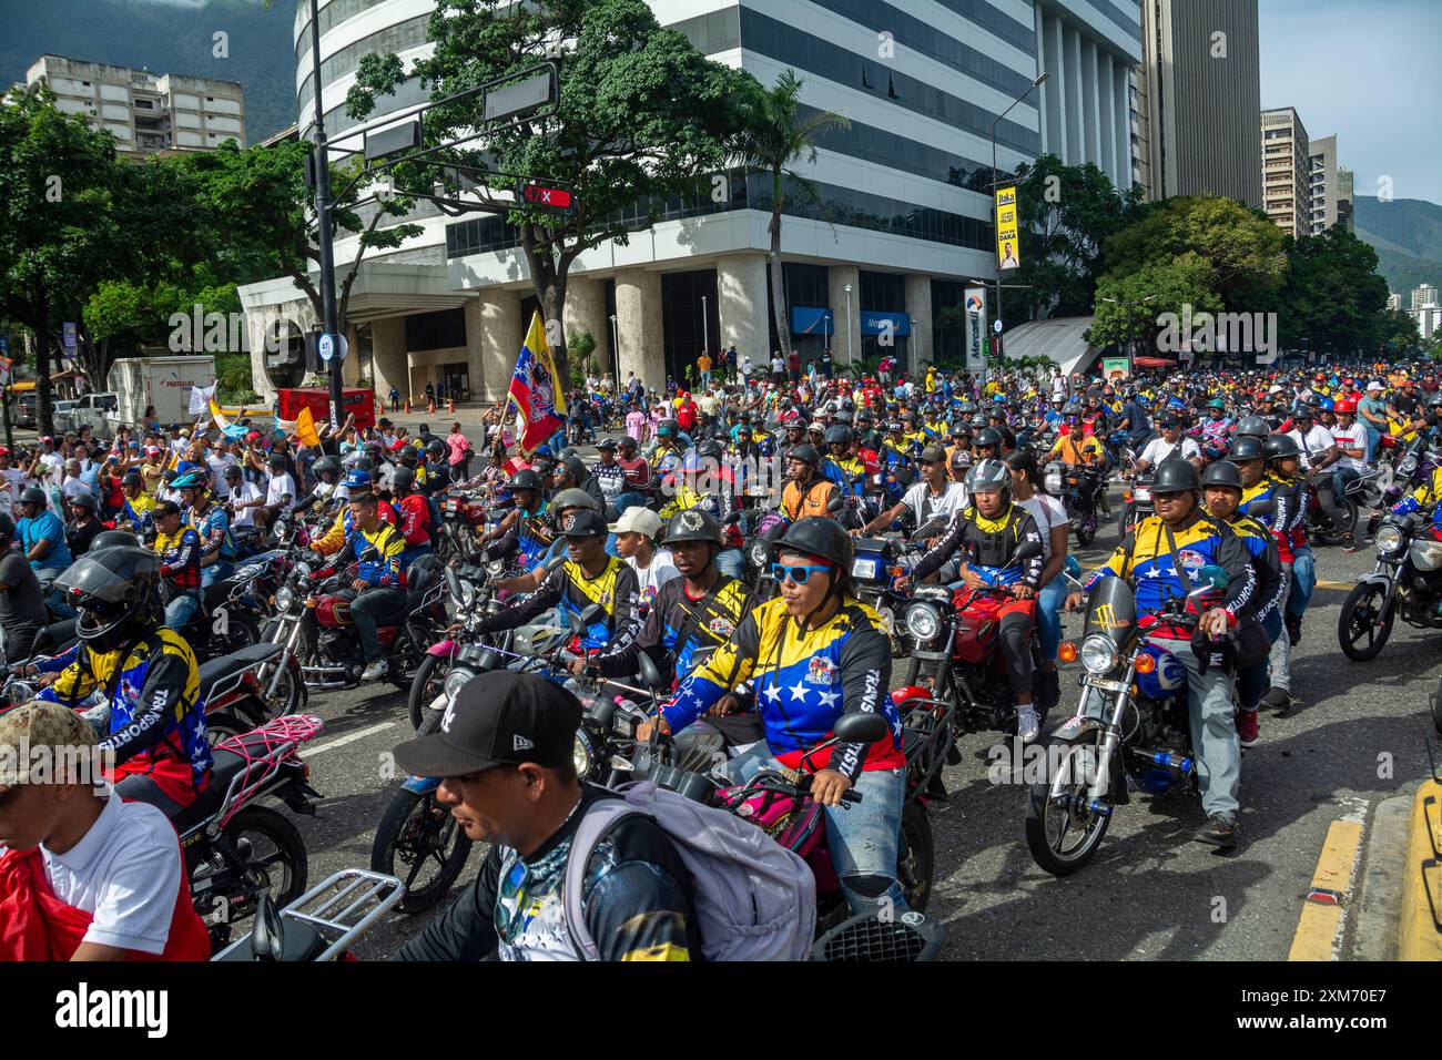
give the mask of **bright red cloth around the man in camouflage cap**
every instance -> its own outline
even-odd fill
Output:
[[[177,844],[179,845],[179,844]],[[94,914],[66,906],[45,878],[39,848],[0,854],[0,960],[69,960],[89,930]],[[127,960],[209,960],[211,936],[190,904],[182,873],[170,937],[162,953],[125,950]]]

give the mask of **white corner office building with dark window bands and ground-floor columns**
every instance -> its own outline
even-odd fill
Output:
[[[770,310],[770,179],[735,169],[720,202],[672,202],[627,247],[603,244],[570,271],[564,329],[596,339],[594,359],[624,379],[682,379],[701,349],[735,346],[769,362],[831,349],[838,363],[874,355],[883,337],[906,365],[960,355],[947,326],[963,290],[995,277],[988,183],[992,124],[1002,173],[1044,151],[1094,162],[1125,185],[1131,166],[1126,71],[1141,58],[1135,0],[652,0],[656,19],[717,62],[763,85],[792,69],[800,102],[851,121],[825,137],[812,180],[825,215],[789,196],[782,225],[784,324]],[[322,118],[332,137],[358,123],[345,97],[365,55],[407,68],[430,52],[431,0],[329,0],[319,9]],[[300,136],[314,121],[309,4],[296,14]],[[884,46],[885,45],[885,46]],[[1048,79],[1030,91],[1034,79]],[[1030,91],[1030,94],[1028,94]],[[384,97],[385,114],[428,98],[414,81]],[[355,147],[356,140],[340,141]],[[712,185],[707,185],[712,190]],[[420,203],[424,232],[368,254],[350,290],[348,379],[372,376],[418,394],[496,397],[509,385],[535,297],[503,218],[447,216]],[[336,242],[345,273],[355,239]],[[290,280],[241,290],[252,336],[267,313],[314,326]],[[952,309],[943,317],[943,312]],[[297,350],[252,353],[268,394],[303,371]]]

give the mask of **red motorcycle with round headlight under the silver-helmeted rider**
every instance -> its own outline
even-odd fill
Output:
[[[1040,542],[1024,542],[1009,567],[1041,555]],[[898,704],[907,707],[947,707],[957,733],[998,730],[1017,734],[1017,704],[1001,658],[1001,627],[989,617],[968,614],[978,597],[995,597],[1002,588],[962,588],[920,586],[901,611],[900,627],[910,637],[911,650],[901,668]],[[1031,652],[1034,669],[1040,665],[1035,629]],[[1043,718],[1044,721],[1045,718]],[[956,764],[960,756],[956,754]]]

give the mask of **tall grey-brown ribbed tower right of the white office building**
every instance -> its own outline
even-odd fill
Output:
[[[1133,172],[1148,199],[1223,195],[1262,205],[1257,0],[1142,0]]]

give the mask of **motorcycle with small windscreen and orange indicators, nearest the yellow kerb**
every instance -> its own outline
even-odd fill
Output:
[[[1226,588],[1227,573],[1208,564],[1194,577],[1197,588],[1151,617],[1194,627],[1201,600]],[[1132,790],[1161,795],[1181,785],[1200,792],[1187,671],[1146,639],[1142,617],[1131,586],[1105,578],[1092,593],[1080,648],[1067,643],[1060,652],[1063,661],[1079,658],[1086,671],[1082,704],[1051,737],[1050,774],[1030,786],[1025,821],[1027,848],[1053,875],[1070,875],[1092,861]]]

